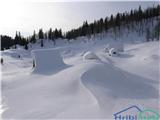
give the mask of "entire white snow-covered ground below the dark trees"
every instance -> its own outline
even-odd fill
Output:
[[[46,40],[41,50],[40,43],[14,50],[20,59],[13,50],[1,52],[2,118],[114,119],[114,113],[132,105],[160,111],[159,42],[125,42],[131,38],[124,39],[119,56],[103,52],[115,42],[109,37],[59,40],[56,46]],[[99,60],[83,60],[91,53]]]

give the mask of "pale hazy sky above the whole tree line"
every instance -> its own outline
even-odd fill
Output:
[[[39,28],[63,31],[77,28],[83,21],[93,22],[117,12],[142,9],[158,2],[2,2],[0,3],[0,34],[14,37],[15,31],[27,36]]]

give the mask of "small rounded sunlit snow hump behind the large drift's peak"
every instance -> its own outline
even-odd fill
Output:
[[[88,51],[83,55],[83,60],[99,60],[99,58],[95,53]]]

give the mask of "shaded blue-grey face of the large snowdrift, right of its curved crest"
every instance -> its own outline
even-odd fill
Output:
[[[101,94],[104,93],[110,97],[157,98],[158,91],[147,81],[149,80],[100,62],[91,63],[91,67],[82,75],[82,82],[97,97],[98,101],[100,91]],[[103,107],[107,104],[106,100],[99,103]]]

